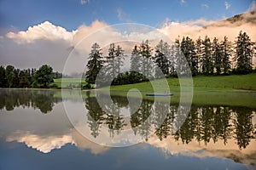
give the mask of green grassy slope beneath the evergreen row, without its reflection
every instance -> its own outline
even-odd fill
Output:
[[[161,86],[162,80],[156,80],[157,84]],[[167,78],[170,90],[179,90],[178,78]],[[230,91],[230,90],[253,90],[256,91],[256,73],[248,75],[232,75],[232,76],[218,76],[207,77],[198,76],[193,77],[193,85],[195,91]],[[137,84],[128,84],[122,86],[112,86],[111,89],[115,91],[126,91],[130,88],[138,88],[141,91],[151,91],[150,82],[142,82]]]

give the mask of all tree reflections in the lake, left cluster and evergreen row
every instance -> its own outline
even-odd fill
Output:
[[[0,110],[13,111],[15,107],[28,107],[39,109],[46,114],[53,110],[55,104],[63,99],[61,95],[56,95],[51,90],[4,90],[0,89]],[[72,92],[70,92],[72,95]],[[101,99],[105,99],[103,94],[99,94]],[[175,140],[183,144],[191,141],[208,144],[223,141],[228,143],[228,139],[236,139],[236,144],[240,149],[246,148],[251,140],[256,138],[256,125],[253,124],[255,111],[247,107],[220,106],[220,105],[192,105],[185,122],[183,114],[177,114],[178,105],[167,105],[164,102],[143,100],[137,109],[139,100],[129,101],[125,97],[112,96],[113,104],[106,98],[104,109],[98,104],[96,96],[86,93],[84,104],[88,110],[87,120],[90,127],[90,134],[97,138],[102,127],[108,127],[111,137],[119,135],[119,132],[131,126],[136,135],[140,135],[144,140],[150,138],[154,133],[158,139],[163,140],[172,136]],[[74,99],[75,101],[75,99]],[[156,109],[158,108],[158,109]],[[181,106],[181,110],[185,107]],[[127,119],[122,111],[130,112]],[[122,110],[122,111],[121,111]],[[165,114],[164,114],[165,113]],[[126,120],[126,121],[125,121]],[[127,122],[128,120],[128,122]],[[162,123],[160,123],[162,122]],[[152,127],[156,127],[154,132]]]

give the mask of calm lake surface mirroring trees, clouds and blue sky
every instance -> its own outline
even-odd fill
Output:
[[[179,106],[164,102],[143,100],[133,111],[127,98],[112,96],[115,105],[107,109],[115,114],[109,114],[89,92],[82,102],[76,91],[65,92],[63,98],[61,91],[53,90],[0,89],[0,94],[1,170],[256,169],[253,108],[191,105],[180,124]],[[74,115],[78,105],[84,105],[79,121],[89,138],[73,126],[65,105]],[[91,141],[104,133],[119,139],[125,129],[133,133],[129,141],[136,138],[140,143],[108,147]]]

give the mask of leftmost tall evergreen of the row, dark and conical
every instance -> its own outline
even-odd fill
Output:
[[[87,71],[85,74],[85,81],[91,84],[95,84],[96,77],[99,71],[102,69],[102,53],[99,44],[94,43],[91,47],[89,54],[89,61],[87,63]]]

